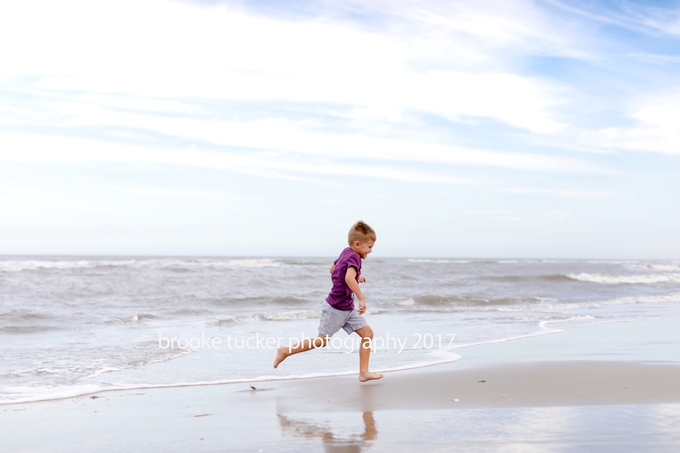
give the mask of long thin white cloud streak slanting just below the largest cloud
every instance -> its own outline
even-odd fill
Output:
[[[596,172],[584,160],[542,154],[494,152],[409,139],[371,137],[367,133],[315,130],[318,124],[287,119],[214,121],[103,109],[83,103],[56,103],[50,107],[63,126],[110,126],[146,130],[181,137],[206,146],[242,150],[285,151],[325,158],[415,161],[451,165],[483,165],[531,171]]]

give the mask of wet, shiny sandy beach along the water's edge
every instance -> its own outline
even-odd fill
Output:
[[[339,376],[3,405],[2,450],[675,451],[676,325],[472,346],[458,362],[368,384]]]

